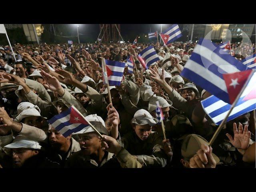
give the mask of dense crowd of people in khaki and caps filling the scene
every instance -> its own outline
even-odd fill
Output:
[[[137,56],[150,45],[160,60],[144,70]],[[255,167],[255,110],[226,122],[209,146],[218,126],[200,101],[211,94],[180,76],[195,46],[15,44],[16,62],[10,47],[1,46],[0,167]],[[110,103],[102,58],[127,63],[130,55],[136,68],[129,73],[126,64],[121,85],[109,88]],[[156,102],[165,132],[156,119]],[[103,138],[90,126],[65,137],[49,124],[71,106]]]

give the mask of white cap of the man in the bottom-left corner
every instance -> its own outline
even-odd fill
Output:
[[[12,143],[4,146],[5,148],[30,148],[30,149],[41,149],[42,146],[36,140],[27,138],[23,135],[18,135]]]

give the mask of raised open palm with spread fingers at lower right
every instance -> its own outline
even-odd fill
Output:
[[[249,147],[249,142],[251,137],[251,132],[248,131],[248,125],[245,125],[243,130],[243,125],[239,124],[238,131],[237,131],[236,123],[234,123],[233,131],[234,131],[234,138],[230,134],[228,133],[226,134],[231,144],[238,149],[243,149],[243,150],[247,149]]]

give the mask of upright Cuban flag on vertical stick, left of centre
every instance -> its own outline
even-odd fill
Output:
[[[110,86],[120,86],[124,74],[125,63],[105,59],[106,72],[103,71],[104,79],[108,76]],[[104,80],[105,83],[105,80]]]

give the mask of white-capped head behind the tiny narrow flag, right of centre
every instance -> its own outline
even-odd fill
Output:
[[[153,98],[150,99],[149,103],[148,103],[148,112],[150,112],[150,114],[156,118],[156,102],[159,102],[159,105],[162,109],[163,115],[164,115],[164,122],[166,122],[166,120],[169,117],[169,111],[170,108],[172,107],[172,102],[170,100],[166,101],[164,98],[159,97],[159,96],[155,96]]]

